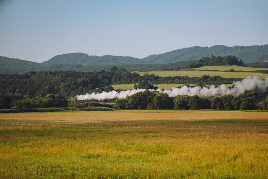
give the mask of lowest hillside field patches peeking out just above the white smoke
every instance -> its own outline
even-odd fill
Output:
[[[172,87],[182,87],[184,86],[185,84],[153,84],[154,86],[157,86],[158,88],[160,89],[171,89]],[[197,84],[189,84],[190,86],[195,86]],[[227,86],[232,86],[234,85],[234,83],[231,83],[231,84],[227,84]],[[114,89],[123,89],[123,90],[126,90],[126,89],[133,89],[133,86],[134,84],[116,84],[116,85],[112,85]],[[207,87],[210,87],[211,85],[206,85]]]

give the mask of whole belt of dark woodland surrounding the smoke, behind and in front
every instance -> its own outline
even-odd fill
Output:
[[[77,94],[101,93],[114,90],[112,84],[138,83],[134,89],[157,89],[153,84],[181,83],[181,84],[222,84],[232,83],[234,78],[207,76],[201,78],[188,76],[159,77],[154,74],[140,76],[137,73],[126,72],[122,67],[114,66],[110,71],[76,72],[76,71],[42,71],[27,72],[25,74],[0,75],[0,108],[55,108],[48,111],[74,110],[108,110],[112,106],[105,106],[94,101],[76,101]],[[234,97],[225,95],[212,99],[198,96],[169,97],[158,91],[139,92],[125,99],[115,99],[115,109],[267,109],[268,92],[255,89]],[[72,99],[72,100],[70,100]],[[57,107],[71,107],[58,109]],[[88,108],[89,107],[89,108]],[[92,108],[92,107],[108,107]],[[12,109],[13,110],[13,109]],[[30,111],[47,111],[36,109]],[[24,110],[19,110],[24,111]],[[26,110],[28,111],[28,110]],[[11,111],[12,112],[12,111]]]

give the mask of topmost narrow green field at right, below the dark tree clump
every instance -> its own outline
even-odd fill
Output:
[[[199,68],[194,68],[196,70],[231,70],[234,69],[235,71],[256,71],[256,70],[268,70],[268,68],[252,68],[252,67],[243,67],[238,65],[225,65],[225,66],[203,66]]]

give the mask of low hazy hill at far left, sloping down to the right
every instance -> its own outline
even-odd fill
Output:
[[[0,73],[1,74],[14,74],[14,73],[22,73],[27,71],[38,70],[43,68],[44,65],[31,62],[27,60],[20,60],[8,57],[0,56]]]

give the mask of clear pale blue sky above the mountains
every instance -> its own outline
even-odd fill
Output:
[[[0,0],[0,56],[144,58],[192,46],[268,44],[268,0]]]

